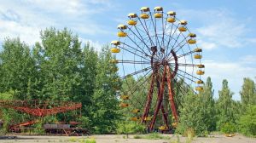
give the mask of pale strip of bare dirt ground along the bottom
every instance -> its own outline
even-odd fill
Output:
[[[12,142],[84,142],[88,139],[96,139],[96,143],[185,143],[188,139],[182,136],[173,134],[163,134],[171,137],[170,140],[146,140],[146,139],[134,139],[134,135],[129,135],[129,139],[124,139],[125,135],[90,135],[90,136],[35,136],[35,135],[16,135],[12,140],[0,140],[1,143]],[[236,134],[234,137],[225,137],[221,134],[212,135],[208,138],[195,137],[192,142],[196,143],[256,143],[256,138],[247,138],[240,134]]]

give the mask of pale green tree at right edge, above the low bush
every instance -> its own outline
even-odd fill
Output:
[[[256,105],[256,87],[255,83],[250,78],[243,78],[241,87],[241,104],[247,106],[248,104]]]

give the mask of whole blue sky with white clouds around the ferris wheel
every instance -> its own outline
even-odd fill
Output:
[[[67,27],[96,49],[116,38],[116,26],[127,14],[148,6],[162,6],[189,21],[204,50],[205,77],[212,77],[215,98],[224,78],[239,100],[243,77],[256,77],[256,1],[243,0],[0,0],[0,43],[4,37],[20,37],[30,44],[49,26]]]

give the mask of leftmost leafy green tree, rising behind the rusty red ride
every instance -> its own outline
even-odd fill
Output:
[[[3,51],[0,53],[0,91],[8,92],[14,89],[17,99],[32,98],[36,89],[35,61],[26,43],[19,38],[7,38],[3,42]]]

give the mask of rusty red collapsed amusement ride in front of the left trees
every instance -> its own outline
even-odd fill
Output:
[[[39,118],[44,118],[50,115],[56,115],[57,113],[69,112],[80,110],[81,113],[81,103],[73,102],[56,102],[56,101],[42,101],[42,100],[0,100],[0,107],[14,109],[18,112],[23,112],[37,119],[26,121],[24,123],[11,124],[9,126],[10,132],[19,133],[21,129],[31,129],[26,128],[32,124],[38,123]],[[83,134],[86,129],[74,128],[79,122],[70,122],[69,124],[44,124],[44,129],[47,133],[52,134]]]

